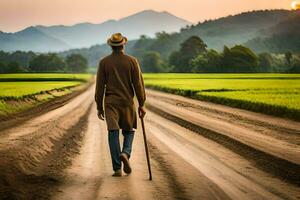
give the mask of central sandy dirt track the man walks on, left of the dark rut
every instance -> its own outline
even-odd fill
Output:
[[[150,97],[151,98],[151,97]],[[211,140],[152,112],[146,117],[154,180],[147,180],[142,133],[136,133],[133,174],[111,177],[104,122],[92,109],[81,154],[53,199],[299,199],[285,183]]]

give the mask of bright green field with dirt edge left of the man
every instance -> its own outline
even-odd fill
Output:
[[[69,94],[90,78],[90,74],[0,74],[0,116]]]

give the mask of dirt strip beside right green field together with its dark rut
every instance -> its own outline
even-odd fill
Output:
[[[148,108],[300,185],[300,123],[148,90]]]

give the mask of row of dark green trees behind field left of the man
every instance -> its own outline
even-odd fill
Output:
[[[65,58],[55,53],[36,54],[34,52],[0,51],[0,73],[24,72],[68,72],[83,73],[88,69],[88,61],[80,54]]]

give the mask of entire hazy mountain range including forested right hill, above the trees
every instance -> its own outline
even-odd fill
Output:
[[[101,24],[35,26],[16,33],[0,32],[0,50],[57,51],[63,57],[80,53],[89,60],[90,65],[96,66],[98,60],[110,52],[105,44],[107,37],[113,32],[122,32],[130,40],[126,45],[129,54],[156,51],[163,59],[168,59],[172,51],[179,49],[180,44],[193,35],[201,37],[208,48],[219,51],[224,45],[231,47],[243,44],[257,53],[299,53],[299,21],[299,10],[263,10],[191,25],[170,13],[146,10]],[[170,34],[163,33],[153,37],[156,32],[161,31]],[[147,37],[142,45],[135,45],[139,36],[144,34],[151,38]]]

